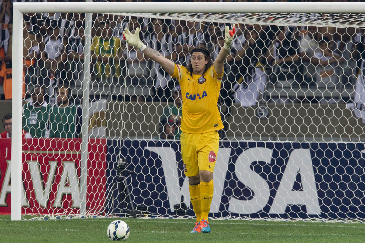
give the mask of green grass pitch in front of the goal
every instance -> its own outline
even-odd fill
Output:
[[[125,242],[365,242],[363,223],[210,220],[210,234],[191,234],[192,219],[55,219],[11,221],[0,215],[0,242],[111,242],[108,224],[125,221],[130,236]]]

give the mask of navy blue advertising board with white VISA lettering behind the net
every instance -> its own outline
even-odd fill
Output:
[[[186,214],[194,215],[179,143],[108,140],[107,146],[107,184],[116,178],[118,155],[126,157],[135,171],[126,177],[135,207],[174,216],[184,196]],[[210,217],[365,219],[364,168],[363,143],[223,141]]]

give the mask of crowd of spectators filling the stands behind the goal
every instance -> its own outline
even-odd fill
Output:
[[[0,8],[0,84],[4,87],[1,99],[11,99],[13,2],[16,1],[3,0]],[[289,17],[296,18],[296,15]],[[304,17],[315,18],[315,14]],[[140,102],[173,102],[177,81],[158,63],[145,60],[139,51],[126,45],[122,34],[124,28],[141,26],[141,40],[147,46],[175,63],[186,65],[193,46],[206,47],[214,59],[223,45],[224,38],[219,37],[226,25],[114,14],[93,14],[92,19],[93,84],[104,87],[124,85],[128,87],[123,94],[127,100]],[[31,96],[31,88],[26,92],[28,86],[45,86],[45,99],[54,104],[54,88],[57,85],[66,84],[74,88],[76,81],[83,78],[85,15],[29,13],[24,15],[24,20],[24,94]],[[271,42],[267,42],[265,40],[270,31],[276,34],[270,36]],[[308,97],[292,96],[289,92],[283,95],[280,90],[293,87],[313,90],[354,88],[357,73],[362,70],[363,50],[364,29],[361,28],[239,24],[237,38],[227,58],[224,72],[227,82],[223,82],[221,95],[227,103],[233,100],[243,107],[257,104],[260,99],[276,103],[346,102],[348,100],[339,95],[322,95],[310,100]],[[272,96],[269,93],[264,96],[268,87],[271,87],[270,92],[279,90],[280,95]]]

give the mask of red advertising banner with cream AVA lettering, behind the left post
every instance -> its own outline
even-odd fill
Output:
[[[106,139],[90,139],[87,214],[105,204]],[[78,214],[81,139],[23,139],[22,213]],[[10,214],[11,139],[0,139],[0,214]]]

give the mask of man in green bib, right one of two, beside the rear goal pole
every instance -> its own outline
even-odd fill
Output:
[[[49,113],[49,138],[78,138],[81,132],[82,109],[70,102],[71,89],[56,88],[57,103]]]

